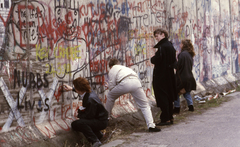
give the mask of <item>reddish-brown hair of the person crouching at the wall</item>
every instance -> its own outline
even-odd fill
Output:
[[[87,92],[87,93],[91,92],[90,84],[88,80],[85,78],[82,78],[82,77],[76,78],[75,80],[73,80],[73,85],[74,85],[74,88],[78,91]]]

